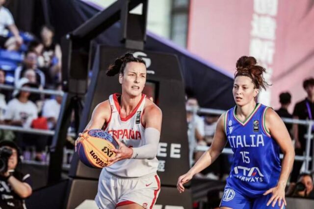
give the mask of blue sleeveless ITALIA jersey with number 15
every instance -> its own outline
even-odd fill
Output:
[[[280,147],[265,128],[267,108],[257,104],[244,122],[236,118],[236,107],[225,115],[225,133],[234,152],[227,184],[252,198],[276,186],[281,171]]]

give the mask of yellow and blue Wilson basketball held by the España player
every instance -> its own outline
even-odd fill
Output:
[[[83,133],[78,142],[78,158],[88,167],[103,168],[116,154],[111,149],[118,149],[118,143],[110,134],[101,129],[92,129]]]

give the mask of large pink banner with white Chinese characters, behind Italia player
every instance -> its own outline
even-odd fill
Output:
[[[314,76],[312,2],[191,0],[188,49],[232,73],[240,56],[255,56],[272,83],[262,95],[276,109],[279,93],[290,92],[291,111],[306,96],[303,80]]]

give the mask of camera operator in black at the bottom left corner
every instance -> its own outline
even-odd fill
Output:
[[[26,209],[24,199],[32,193],[30,175],[16,170],[21,161],[19,147],[0,141],[0,209]]]

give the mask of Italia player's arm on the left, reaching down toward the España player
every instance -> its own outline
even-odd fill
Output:
[[[177,188],[180,192],[184,191],[183,184],[190,181],[194,174],[201,172],[211,163],[213,163],[225,147],[227,138],[224,131],[224,116],[225,114],[222,114],[218,119],[215,135],[209,149],[187,173],[179,177]]]

